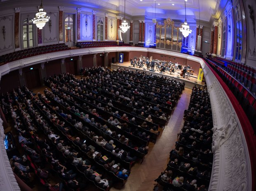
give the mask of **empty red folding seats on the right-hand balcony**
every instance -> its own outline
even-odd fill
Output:
[[[222,80],[229,87],[242,106],[254,133],[256,133],[256,73],[255,69],[235,62],[228,62],[225,66],[223,61],[209,60],[205,61],[216,71]],[[225,62],[227,62],[225,60]],[[233,65],[232,65],[233,64]],[[235,65],[234,65],[235,64]]]

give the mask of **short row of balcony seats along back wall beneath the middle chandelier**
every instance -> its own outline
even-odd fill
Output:
[[[117,44],[116,41],[88,41],[88,42],[78,42],[76,46],[81,48],[96,48],[96,47],[131,46],[131,45],[125,44],[123,42],[119,42],[119,44]]]

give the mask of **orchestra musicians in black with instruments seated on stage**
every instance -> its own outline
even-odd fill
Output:
[[[180,76],[183,78],[185,78],[185,76],[189,77],[194,73],[194,70],[189,66],[189,64],[187,66],[182,66],[177,63],[160,61],[157,59],[151,60],[151,58],[149,59],[148,57],[146,58],[142,55],[139,59],[134,57],[134,59],[131,59],[130,62],[132,67],[144,68],[145,64],[147,70],[156,70],[161,73],[169,72],[169,74],[175,74],[176,71],[180,71]]]

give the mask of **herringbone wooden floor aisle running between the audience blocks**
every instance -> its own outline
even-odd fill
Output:
[[[192,90],[185,88],[178,101],[169,123],[161,132],[155,145],[149,144],[149,152],[142,164],[135,163],[131,175],[122,189],[110,191],[153,191],[154,180],[165,170],[169,161],[169,152],[174,149],[177,133],[183,126],[183,112],[188,108]]]

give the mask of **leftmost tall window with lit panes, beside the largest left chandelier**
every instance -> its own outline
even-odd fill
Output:
[[[33,47],[33,22],[31,18],[26,18],[23,21],[22,31],[23,48]]]

